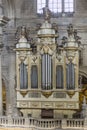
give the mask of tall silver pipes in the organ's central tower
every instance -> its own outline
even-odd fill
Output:
[[[52,58],[49,54],[42,55],[42,89],[52,89]]]

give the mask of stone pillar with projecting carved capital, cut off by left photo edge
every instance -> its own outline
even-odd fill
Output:
[[[0,0],[0,115],[2,115],[2,68],[1,68],[1,50],[2,50],[2,47],[3,47],[3,44],[2,44],[2,27],[8,22],[8,18],[5,17],[3,15],[3,5],[2,5],[2,0]]]

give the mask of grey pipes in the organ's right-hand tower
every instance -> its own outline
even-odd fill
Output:
[[[67,89],[75,89],[75,69],[74,64],[69,63],[66,70]]]

